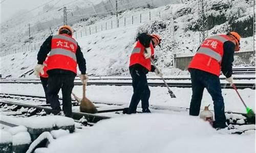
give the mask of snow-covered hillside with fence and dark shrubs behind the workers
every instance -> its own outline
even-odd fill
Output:
[[[87,60],[88,73],[94,74],[128,74],[129,56],[136,35],[140,32],[157,33],[162,37],[162,47],[156,48],[156,63],[164,74],[184,74],[186,71],[173,68],[173,54],[193,54],[199,43],[198,32],[198,4],[197,1],[187,1],[185,4],[169,4],[157,8],[134,8],[119,13],[120,28],[98,30],[91,35],[88,27],[115,22],[115,15],[94,16],[72,24],[76,31],[74,37],[82,48]],[[226,33],[229,30],[237,31],[242,36],[241,50],[253,50],[253,1],[208,1],[208,35]],[[151,20],[138,18],[131,24],[131,16],[152,12]],[[161,12],[160,17],[156,16]],[[126,17],[127,24],[121,21]],[[146,17],[144,17],[146,18]],[[128,24],[130,22],[130,24]],[[96,24],[92,24],[96,23]],[[98,23],[98,24],[97,24]],[[98,26],[100,29],[100,26]],[[52,28],[56,34],[58,27]],[[85,35],[87,29],[87,35]],[[104,29],[104,27],[103,27]],[[18,53],[1,57],[1,73],[3,77],[20,77],[33,69],[36,64],[36,54],[39,45],[50,35],[50,30],[41,30],[28,39],[27,27],[14,26],[1,30],[1,52],[9,53],[17,50]],[[94,29],[95,31],[95,29]],[[80,32],[83,36],[80,37]],[[26,36],[26,37],[25,37]],[[30,43],[32,48],[24,52],[20,49]],[[19,50],[17,49],[19,48]],[[20,52],[20,50],[22,52]],[[20,52],[20,53],[19,53]],[[255,57],[251,58],[255,61]],[[237,59],[239,61],[239,59]],[[235,66],[241,63],[235,62]],[[255,66],[255,62],[251,65]],[[26,75],[26,77],[34,77]]]

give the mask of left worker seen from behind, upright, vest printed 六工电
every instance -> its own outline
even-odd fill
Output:
[[[62,110],[65,116],[72,117],[71,92],[74,87],[74,79],[77,74],[77,64],[81,71],[80,79],[84,84],[88,80],[86,74],[86,60],[83,57],[80,46],[72,37],[73,30],[69,25],[63,25],[58,30],[58,35],[49,36],[41,45],[37,54],[35,73],[44,73],[44,65],[47,54],[48,90],[47,95],[53,114],[61,114],[58,92],[62,92]]]

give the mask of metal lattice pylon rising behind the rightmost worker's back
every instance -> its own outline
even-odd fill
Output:
[[[208,37],[208,21],[207,21],[207,0],[198,1],[199,10],[199,41],[202,43]]]

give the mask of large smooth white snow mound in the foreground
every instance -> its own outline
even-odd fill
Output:
[[[219,134],[199,117],[152,113],[100,121],[92,129],[52,141],[46,152],[200,153],[243,152],[244,148],[254,151],[254,135]]]

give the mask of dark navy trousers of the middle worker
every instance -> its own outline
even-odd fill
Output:
[[[136,69],[132,69],[130,74],[133,81],[133,96],[127,113],[136,113],[136,109],[140,100],[142,112],[147,112],[148,99],[150,98],[150,88],[148,88],[146,74],[143,71]]]

